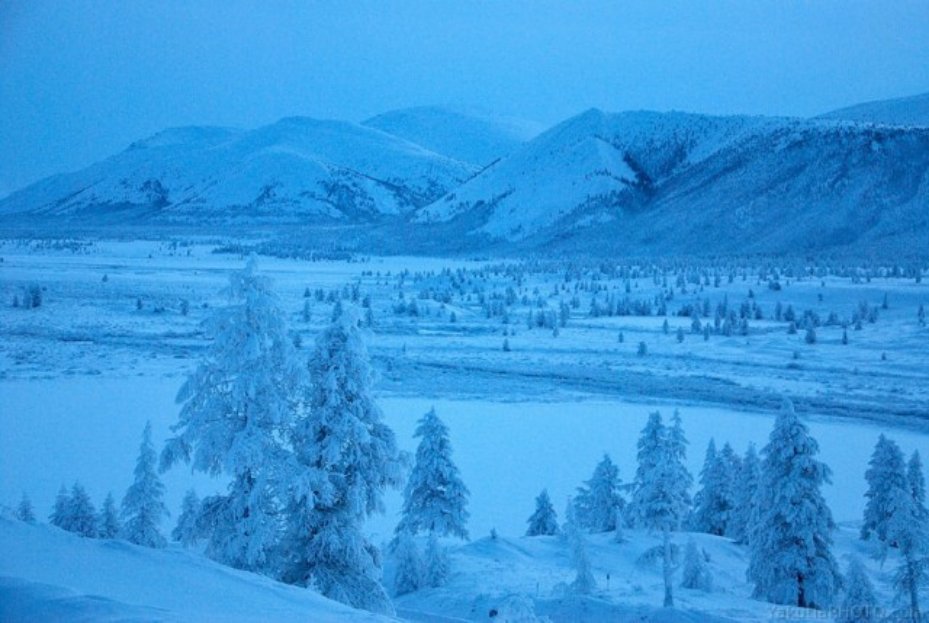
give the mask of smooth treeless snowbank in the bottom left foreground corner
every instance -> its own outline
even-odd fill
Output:
[[[0,517],[0,620],[389,621],[181,549],[84,539]]]

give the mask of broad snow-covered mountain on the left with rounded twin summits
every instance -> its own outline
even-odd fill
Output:
[[[0,202],[0,214],[202,224],[369,220],[441,196],[475,167],[374,128],[304,117],[243,132],[166,130]]]

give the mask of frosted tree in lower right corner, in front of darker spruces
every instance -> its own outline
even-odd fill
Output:
[[[905,488],[893,487],[887,499],[889,513],[887,541],[900,552],[900,564],[894,571],[894,589],[903,610],[896,621],[923,619],[919,610],[919,589],[929,584],[929,521],[920,516],[913,496]]]

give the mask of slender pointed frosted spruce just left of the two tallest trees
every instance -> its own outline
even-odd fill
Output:
[[[164,485],[158,478],[156,463],[152,423],[146,422],[135,464],[135,480],[123,496],[122,535],[130,543],[161,548],[167,545],[167,541],[158,526],[161,518],[168,514],[168,509],[164,505]]]

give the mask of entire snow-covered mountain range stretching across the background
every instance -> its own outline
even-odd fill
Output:
[[[929,248],[929,127],[589,110],[531,134],[437,108],[172,129],[14,193],[0,221],[346,223],[336,242],[396,253]]]

